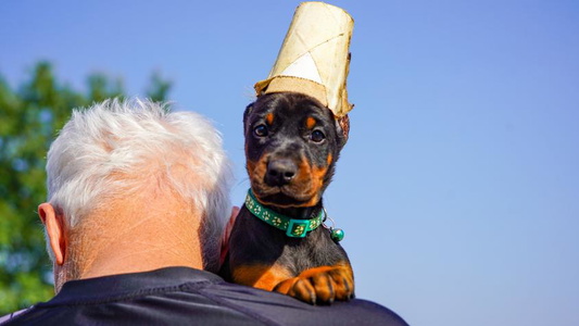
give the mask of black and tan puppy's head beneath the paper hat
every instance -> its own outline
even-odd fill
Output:
[[[294,92],[261,96],[243,114],[247,170],[263,204],[316,205],[348,140],[348,116],[335,118],[316,99]]]

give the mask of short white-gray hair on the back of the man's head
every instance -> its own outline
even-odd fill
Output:
[[[221,135],[201,115],[141,100],[74,110],[47,161],[48,201],[68,227],[100,203],[130,198],[155,180],[202,213],[204,267],[217,268],[232,173]]]

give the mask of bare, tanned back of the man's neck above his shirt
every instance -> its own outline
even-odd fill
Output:
[[[168,266],[203,268],[199,220],[191,215],[177,216],[171,210],[165,211],[164,216],[149,212],[139,220],[123,212],[115,215],[115,218],[104,218],[105,222],[98,225],[85,225],[73,231],[68,249],[77,252],[68,252],[70,261],[61,266],[64,268],[61,277],[66,279],[56,284],[71,280],[70,276],[81,279]],[[75,271],[70,273],[66,268]]]

